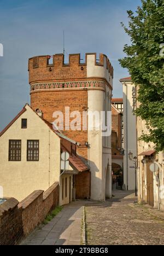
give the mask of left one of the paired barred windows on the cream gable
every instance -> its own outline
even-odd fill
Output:
[[[21,161],[21,140],[9,140],[9,161]]]

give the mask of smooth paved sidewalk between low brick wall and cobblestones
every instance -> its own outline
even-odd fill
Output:
[[[21,245],[80,245],[83,201],[72,202],[46,225],[40,225]]]

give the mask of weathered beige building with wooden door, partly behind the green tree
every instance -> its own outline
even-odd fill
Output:
[[[137,102],[138,106],[138,102]],[[137,117],[137,137],[148,133],[145,121]],[[164,210],[164,152],[156,153],[153,143],[138,141],[138,202]],[[150,165],[159,167],[150,171]]]

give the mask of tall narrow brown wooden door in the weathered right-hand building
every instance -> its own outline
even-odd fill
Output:
[[[153,172],[150,171],[150,164],[152,161],[147,162],[147,202],[149,205],[154,206],[154,185],[153,185]]]

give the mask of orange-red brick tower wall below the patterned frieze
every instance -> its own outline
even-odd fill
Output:
[[[70,112],[79,111],[82,118],[84,109],[87,109],[87,91],[36,92],[31,94],[31,106],[33,109],[40,108],[43,111],[44,119],[49,122],[55,120],[52,115],[58,110],[63,113],[65,120],[65,106],[70,107]],[[81,131],[65,131],[65,123],[63,125],[67,137],[84,145],[87,141],[87,131],[83,131],[82,127]],[[87,159],[86,147],[79,148],[78,153]]]

